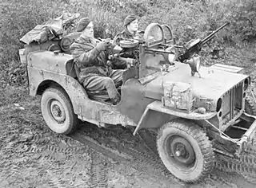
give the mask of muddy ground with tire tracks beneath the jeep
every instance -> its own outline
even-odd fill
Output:
[[[254,61],[245,72],[254,75]],[[133,137],[129,128],[81,123],[73,135],[56,135],[42,119],[40,97],[26,87],[0,90],[0,127],[2,188],[256,187],[217,168],[203,182],[184,184],[162,166],[143,131]]]

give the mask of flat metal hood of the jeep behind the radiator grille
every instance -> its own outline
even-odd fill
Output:
[[[166,80],[172,82],[184,82],[191,84],[191,88],[195,97],[218,100],[225,92],[233,88],[242,80],[246,79],[246,75],[234,72],[226,72],[223,70],[211,69],[210,67],[201,67],[199,73],[191,76],[189,65],[176,62],[175,66],[169,69],[170,72],[162,75],[161,72],[155,72],[148,78],[140,79],[145,85],[145,96],[155,100],[161,100],[163,95],[162,83]]]

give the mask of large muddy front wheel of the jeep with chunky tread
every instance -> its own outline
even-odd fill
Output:
[[[158,131],[157,145],[162,163],[184,182],[197,182],[214,166],[210,140],[193,122],[175,119],[164,124]]]

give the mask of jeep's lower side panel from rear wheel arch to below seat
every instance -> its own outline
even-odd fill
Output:
[[[116,106],[90,100],[86,90],[71,76],[56,74],[42,69],[28,67],[30,78],[30,95],[37,95],[38,89],[46,83],[56,83],[65,89],[73,104],[74,113],[79,119],[90,123],[122,124],[123,126],[136,126],[133,120],[118,112]]]

